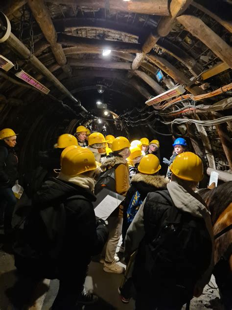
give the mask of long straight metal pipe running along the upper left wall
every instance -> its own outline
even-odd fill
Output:
[[[45,67],[45,65],[35,56],[31,55],[31,52],[25,47],[25,45],[11,32],[6,44],[17,54],[23,57],[24,60],[30,62],[30,64],[38,70],[43,76],[50,80],[56,88],[58,88],[62,93],[66,94],[73,102],[78,103],[79,107],[88,112],[76,99],[70,91]]]

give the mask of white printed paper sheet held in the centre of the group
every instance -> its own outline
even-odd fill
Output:
[[[124,199],[124,197],[123,197]],[[100,204],[95,207],[94,212],[96,217],[102,218],[104,221],[111,215],[111,213],[120,205],[122,202],[119,198],[114,198],[107,195]]]

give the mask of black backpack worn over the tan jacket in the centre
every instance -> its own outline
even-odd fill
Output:
[[[94,187],[95,195],[97,195],[103,188],[116,192],[115,170],[119,165],[120,164],[116,164],[100,174]]]

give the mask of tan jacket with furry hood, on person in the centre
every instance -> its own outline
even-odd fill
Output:
[[[123,157],[114,156],[112,153],[110,157],[101,158],[102,170],[109,169],[117,165],[115,169],[115,181],[116,181],[116,192],[120,195],[126,196],[126,193],[130,187],[129,182],[129,166]]]

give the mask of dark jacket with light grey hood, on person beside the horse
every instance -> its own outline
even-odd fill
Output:
[[[206,223],[206,228],[209,232],[209,235],[211,237],[212,242],[212,251],[210,253],[211,255],[211,261],[209,263],[208,269],[205,271],[205,273],[201,276],[201,278],[198,279],[196,283],[196,287],[201,291],[203,290],[204,286],[209,283],[212,268],[214,265],[214,248],[213,248],[213,233],[212,233],[212,225],[211,225],[211,219],[210,219],[210,212],[207,209],[205,202],[201,199],[201,197],[194,193],[190,188],[184,188],[181,185],[179,185],[177,182],[172,181],[167,184],[167,191],[168,195],[167,198],[160,199],[159,197],[156,198],[156,193],[150,193],[148,194],[147,198],[139,208],[139,211],[137,212],[134,221],[130,225],[126,240],[125,240],[125,258],[126,260],[129,259],[130,255],[140,248],[142,244],[142,240],[146,237],[146,227],[144,226],[144,208],[147,208],[147,204],[152,206],[153,208],[153,217],[150,219],[150,222],[154,224],[153,229],[156,229],[157,223],[160,223],[162,220],[162,216],[165,213],[165,210],[172,205],[172,202],[174,205],[179,208],[180,210],[184,212],[190,213],[194,217],[203,218]],[[141,242],[141,243],[140,243]],[[139,251],[139,250],[138,250]],[[138,256],[138,259],[145,259],[145,256]],[[144,263],[144,262],[143,262]],[[141,262],[139,264],[141,266]],[[136,267],[135,267],[136,269]],[[142,272],[139,271],[138,265],[137,265],[137,271],[138,274],[142,274]],[[137,272],[136,271],[136,272]],[[158,280],[159,281],[159,280]]]

